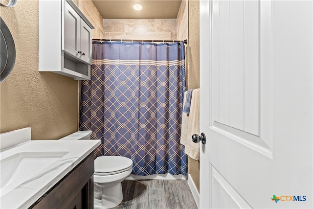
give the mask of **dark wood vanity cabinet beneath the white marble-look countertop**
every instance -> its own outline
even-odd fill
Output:
[[[88,157],[39,198],[33,209],[93,209],[94,157]]]

